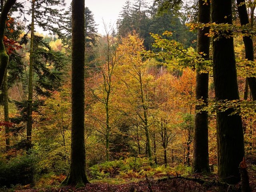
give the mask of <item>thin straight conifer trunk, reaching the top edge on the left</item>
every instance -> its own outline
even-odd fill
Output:
[[[27,120],[27,146],[26,146],[26,150],[27,151],[32,148],[34,17],[35,17],[35,0],[32,0],[32,18],[31,18],[31,36],[30,36],[30,58],[29,58],[29,76],[28,76],[28,120]]]

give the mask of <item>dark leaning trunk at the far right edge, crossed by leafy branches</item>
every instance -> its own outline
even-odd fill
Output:
[[[245,0],[236,0],[238,4],[238,14],[240,18],[241,26],[250,24],[249,16],[246,10],[246,4]],[[253,21],[251,21],[253,24]],[[251,37],[244,36],[244,48],[245,48],[245,58],[249,61],[254,60],[254,49],[253,49],[253,42]],[[248,81],[251,94],[252,94],[252,100],[256,100],[256,78],[255,77],[248,77],[246,78]]]

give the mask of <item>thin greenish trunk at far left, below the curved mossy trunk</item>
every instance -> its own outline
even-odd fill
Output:
[[[8,106],[8,81],[7,81],[7,71],[4,74],[3,82],[3,92],[4,92],[4,121],[9,122],[9,106]],[[5,126],[5,149],[8,151],[10,148],[10,128]]]

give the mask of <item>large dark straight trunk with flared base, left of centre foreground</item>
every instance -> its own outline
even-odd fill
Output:
[[[70,169],[62,184],[84,186],[84,0],[72,0],[72,126]]]

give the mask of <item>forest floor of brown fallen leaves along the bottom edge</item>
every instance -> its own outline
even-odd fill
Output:
[[[256,192],[256,169],[254,165],[248,165],[248,173],[252,192]],[[198,180],[198,178],[200,179]],[[72,186],[47,186],[46,188],[30,188],[29,185],[16,186],[12,189],[3,190],[3,192],[216,192],[218,187],[216,183],[214,184],[214,180],[217,180],[216,174],[209,174],[208,176],[190,174],[186,177],[144,178],[133,182],[127,180],[122,184],[113,184],[111,179],[109,179],[110,182],[93,180],[92,183],[82,188]],[[226,185],[224,191],[238,192],[241,191],[241,186],[240,184]]]

